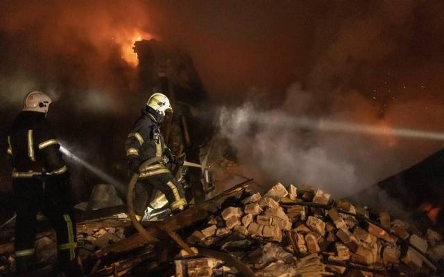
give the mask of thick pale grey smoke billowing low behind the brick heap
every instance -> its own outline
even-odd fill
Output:
[[[393,129],[405,127],[410,120],[399,109],[413,112],[422,103],[394,107],[386,118],[377,118],[372,116],[376,113],[370,101],[357,96],[353,102],[359,109],[354,109],[338,98],[332,102],[334,112],[324,112],[314,120],[311,111],[319,102],[293,84],[275,109],[265,110],[250,102],[221,109],[221,132],[237,151],[245,174],[264,185],[280,181],[321,187],[335,197],[345,197],[411,166],[442,145],[442,134],[420,132],[422,126],[409,132]],[[441,116],[442,111],[433,114]],[[438,123],[434,120],[431,125]],[[418,154],[406,157],[404,151],[411,148]]]

